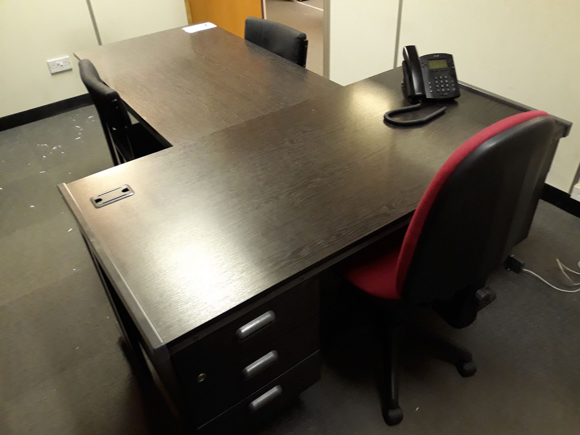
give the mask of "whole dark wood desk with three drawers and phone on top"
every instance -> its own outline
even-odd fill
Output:
[[[462,142],[521,111],[463,89],[430,124],[385,125],[404,104],[389,71],[59,186],[122,324],[200,433],[231,433],[259,397],[317,379],[318,271],[407,223]],[[132,196],[90,201],[125,184]],[[274,350],[245,387],[242,369]]]

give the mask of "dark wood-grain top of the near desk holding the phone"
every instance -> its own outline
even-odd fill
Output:
[[[414,211],[466,139],[519,111],[463,90],[411,128],[400,71],[67,184],[85,231],[168,342]],[[89,198],[129,184],[96,209]],[[74,202],[74,201],[70,201]]]

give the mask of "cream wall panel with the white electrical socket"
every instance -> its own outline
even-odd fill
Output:
[[[51,75],[46,60],[94,45],[84,1],[0,0],[0,117],[86,93],[74,70]]]

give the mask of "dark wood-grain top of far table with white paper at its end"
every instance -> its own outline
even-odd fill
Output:
[[[182,28],[76,52],[176,146],[340,85],[216,27]]]

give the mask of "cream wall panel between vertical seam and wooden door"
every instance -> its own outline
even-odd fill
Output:
[[[184,0],[91,0],[103,44],[187,26]]]

